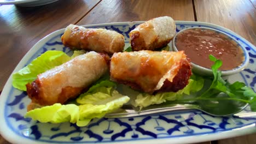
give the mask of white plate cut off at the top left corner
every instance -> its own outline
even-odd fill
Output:
[[[0,4],[15,4],[21,7],[36,7],[56,1],[58,0],[0,0]]]

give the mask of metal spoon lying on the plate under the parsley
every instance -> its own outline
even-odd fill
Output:
[[[227,97],[225,94],[220,97]],[[208,113],[212,116],[229,116],[242,111],[247,106],[247,103],[234,100],[201,100],[191,104],[174,104],[166,102],[159,105],[150,105],[139,110],[132,105],[124,105],[119,111],[108,113],[107,118],[135,117],[150,115],[153,113],[169,112],[176,110],[196,109]]]

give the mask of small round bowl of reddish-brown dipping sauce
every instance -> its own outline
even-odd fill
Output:
[[[249,55],[234,38],[216,29],[191,27],[179,31],[172,40],[173,51],[185,51],[191,59],[193,72],[212,76],[213,64],[209,55],[223,62],[219,70],[222,76],[233,75],[245,69],[249,63]]]

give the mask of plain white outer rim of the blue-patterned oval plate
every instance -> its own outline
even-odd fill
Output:
[[[32,0],[33,1],[33,0]],[[37,1],[37,0],[36,0]],[[83,25],[85,27],[93,27],[93,26],[106,26],[106,25],[135,25],[135,24],[139,24],[142,23],[144,21],[133,21],[133,22],[112,22],[112,23],[98,23],[98,24],[92,24],[92,25]],[[236,34],[235,32],[232,32],[230,29],[228,28],[224,28],[222,26],[218,26],[218,25],[214,25],[213,23],[207,23],[207,22],[196,22],[196,21],[176,21],[176,23],[184,23],[184,24],[188,24],[191,25],[191,23],[194,23],[195,25],[210,25],[210,26],[214,26],[214,27],[218,27],[221,28],[225,31],[228,31],[231,34],[234,34],[236,37],[239,37],[241,40],[243,40],[248,46],[251,46],[253,48],[253,51],[255,52],[255,46],[251,43],[249,43],[248,40],[246,40],[245,38],[241,37],[240,35]],[[36,44],[34,44],[32,46],[32,48],[26,53],[26,55],[24,57],[22,57],[21,61],[19,62],[19,64],[15,67],[15,69],[13,70],[13,72],[11,73],[11,75],[13,75],[13,73],[15,73],[16,71],[20,70],[20,68],[22,68],[27,59],[28,56],[31,56],[34,54],[34,52],[36,52],[37,50],[40,49],[40,46],[45,44],[46,41],[48,41],[49,39],[55,37],[58,34],[61,34],[65,31],[65,28],[59,29],[55,32],[52,32],[48,35],[46,35],[44,38],[40,39]],[[7,99],[7,94],[10,91],[11,88],[11,75],[9,76],[7,82],[4,85],[3,91],[0,95],[0,107],[2,108],[0,110],[0,119],[3,119],[4,124],[2,125],[2,128],[0,129],[0,134],[4,137],[4,139],[10,141],[10,142],[20,142],[18,141],[18,139],[22,139],[22,143],[34,143],[34,142],[39,142],[39,143],[48,143],[48,142],[43,142],[43,141],[35,141],[32,139],[26,139],[18,134],[16,134],[13,130],[11,130],[8,125],[7,122],[5,121],[4,118],[4,107],[5,107],[5,101]],[[225,133],[225,135],[223,134]],[[186,140],[186,143],[192,143],[192,142],[202,142],[202,141],[209,141],[209,140],[219,140],[219,139],[225,139],[225,138],[229,138],[229,137],[235,137],[235,136],[241,136],[241,135],[246,135],[246,134],[250,134],[250,133],[256,133],[256,126],[255,124],[253,125],[248,125],[246,127],[242,127],[242,128],[238,128],[237,130],[229,130],[229,131],[222,131],[220,133],[211,133],[211,134],[207,134],[203,137],[203,139],[194,139],[195,137],[197,137],[198,135],[192,135],[192,136],[186,136],[186,137],[180,137],[179,139],[175,138],[175,137],[170,137],[170,140],[172,140],[171,143],[182,143],[184,142],[184,140]],[[13,139],[13,137],[18,136],[18,138]],[[191,142],[188,142],[187,140],[192,140]],[[166,139],[155,139],[161,143],[165,143]],[[176,141],[178,140],[178,141]],[[181,141],[183,140],[183,141]],[[154,139],[153,140],[139,140],[136,142],[139,143],[148,143],[148,142],[155,142]],[[122,143],[129,143],[130,141],[122,141]],[[167,142],[167,141],[166,141]],[[102,142],[102,143],[109,143],[109,142]],[[168,141],[168,143],[170,143],[170,141]]]

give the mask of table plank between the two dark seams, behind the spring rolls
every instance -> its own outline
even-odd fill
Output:
[[[118,1],[103,0],[77,24],[144,21],[159,16],[171,16],[174,20],[194,21],[192,1]],[[100,17],[100,19],[98,19]]]

